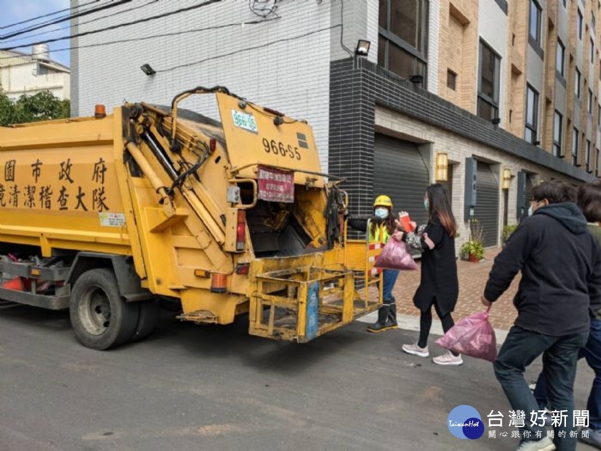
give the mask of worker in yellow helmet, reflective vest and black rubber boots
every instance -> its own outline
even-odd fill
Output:
[[[374,213],[371,217],[369,241],[386,243],[397,230],[394,215],[392,215],[392,200],[387,195],[379,195],[373,204]],[[367,232],[367,219],[349,218],[349,227]],[[380,227],[383,225],[383,227]],[[380,230],[382,236],[380,236]],[[384,269],[382,275],[382,307],[378,310],[377,321],[367,327],[369,332],[382,332],[398,328],[397,305],[392,289],[397,281],[397,269]]]

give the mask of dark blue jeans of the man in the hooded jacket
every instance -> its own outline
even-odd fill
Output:
[[[574,411],[574,379],[578,352],[585,345],[588,331],[563,337],[543,335],[513,326],[501,346],[501,351],[495,361],[495,375],[512,410],[523,411],[526,414],[525,427],[520,428],[523,437],[525,431],[530,437],[536,437],[540,431],[545,437],[545,426],[531,426],[531,412],[538,411],[538,403],[528,388],[524,378],[526,366],[543,354],[543,370],[549,382],[549,407],[551,410],[566,410],[566,425],[555,428],[555,446],[557,451],[575,451],[576,438],[570,437],[573,427]],[[565,431],[565,438],[559,437],[559,432]]]

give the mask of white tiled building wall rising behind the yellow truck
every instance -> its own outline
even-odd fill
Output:
[[[137,7],[144,1],[132,3]],[[144,8],[80,25],[79,32],[168,13],[195,3],[201,2],[148,2]],[[258,25],[248,24],[263,20],[249,10],[248,0],[225,0],[163,19],[79,38],[79,66],[73,68],[73,87],[78,91],[74,105],[76,114],[91,114],[96,103],[105,103],[110,111],[124,100],[168,105],[172,97],[183,90],[198,85],[225,85],[251,101],[291,117],[306,118],[314,127],[323,170],[327,170],[331,35],[340,36],[340,27],[328,28],[340,23],[340,14],[331,13],[332,8],[339,8],[339,2],[280,0],[277,5],[279,19]],[[102,15],[130,8],[132,4],[128,3]],[[266,19],[275,17],[270,14]],[[242,22],[247,24],[240,25]],[[184,33],[227,24],[237,25]],[[180,34],[151,38],[151,35],[173,32]],[[308,32],[315,33],[299,37]],[[81,48],[131,39],[138,40]],[[349,38],[349,41],[352,39],[356,43],[356,38]],[[150,64],[157,74],[144,75],[140,66],[145,63]],[[182,64],[190,65],[168,70]],[[162,70],[168,71],[160,72]],[[212,117],[217,115],[214,103],[206,97],[192,97],[182,106]]]

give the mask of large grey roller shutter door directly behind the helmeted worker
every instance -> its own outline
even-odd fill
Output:
[[[374,198],[391,197],[394,212],[407,210],[417,224],[426,224],[424,194],[429,174],[417,146],[384,135],[376,135],[374,151]]]

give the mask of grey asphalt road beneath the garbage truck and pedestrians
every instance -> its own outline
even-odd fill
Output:
[[[457,405],[486,426],[491,410],[507,415],[489,363],[439,367],[400,352],[415,333],[364,328],[296,345],[248,336],[243,321],[203,327],[165,312],[149,339],[100,352],[76,342],[67,313],[0,310],[0,450],[516,448],[447,428]],[[582,364],[578,408],[591,381]]]

